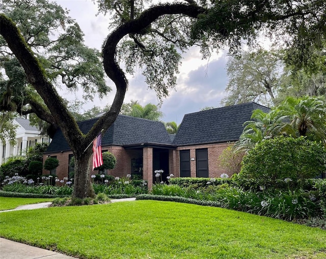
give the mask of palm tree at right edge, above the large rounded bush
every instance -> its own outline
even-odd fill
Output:
[[[287,120],[283,127],[292,127],[298,136],[326,141],[326,102],[323,97],[289,97],[277,109]]]

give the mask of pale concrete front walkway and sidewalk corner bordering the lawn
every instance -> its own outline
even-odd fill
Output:
[[[112,199],[112,203],[117,202],[131,202],[136,198],[124,198],[124,199]],[[39,203],[31,205],[19,206],[13,210],[7,211],[17,211],[17,210],[33,210],[40,208],[48,208],[51,203]],[[0,211],[6,212],[6,211]],[[25,245],[22,243],[14,242],[4,238],[0,238],[0,259],[73,259],[76,257],[71,257],[65,254],[49,251],[46,249]]]

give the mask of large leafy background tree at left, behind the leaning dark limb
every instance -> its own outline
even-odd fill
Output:
[[[62,7],[46,0],[3,0],[0,10],[15,21],[23,41],[33,51],[53,88],[65,87],[70,93],[82,88],[84,100],[103,97],[111,91],[105,83],[100,52],[84,44],[79,25]],[[35,124],[41,124],[53,136],[58,129],[56,119],[3,37],[0,38],[0,67],[4,72],[0,73],[0,111],[7,118],[12,113],[36,114],[48,125],[34,119]],[[4,124],[0,126],[2,133],[10,130]]]

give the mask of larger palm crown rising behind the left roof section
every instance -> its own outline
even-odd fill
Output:
[[[135,103],[131,106],[131,110],[127,115],[159,122],[163,116],[163,113],[155,104],[148,103],[143,107],[142,105]]]

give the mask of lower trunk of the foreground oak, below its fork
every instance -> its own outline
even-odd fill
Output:
[[[93,185],[90,179],[91,149],[84,154],[75,155],[75,182],[72,197],[95,197]]]

